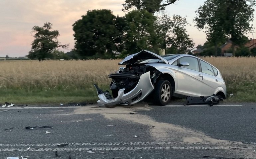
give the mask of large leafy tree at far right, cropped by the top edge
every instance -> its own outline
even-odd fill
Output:
[[[255,0],[207,0],[196,11],[194,21],[197,28],[205,29],[215,48],[223,39],[230,39],[235,56],[235,45],[244,43],[244,34],[253,29],[254,6]]]

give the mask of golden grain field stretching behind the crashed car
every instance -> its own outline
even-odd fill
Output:
[[[202,58],[216,66],[227,85],[228,94],[239,95],[238,101],[256,101],[256,58]],[[0,61],[0,89],[30,91],[88,90],[95,96],[97,83],[106,89],[121,60],[20,60]],[[97,97],[95,97],[97,98]]]

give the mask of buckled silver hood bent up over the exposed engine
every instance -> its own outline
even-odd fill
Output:
[[[147,51],[147,50],[142,50],[136,54],[129,55],[124,60],[119,62],[118,64],[120,64],[120,65],[134,64],[138,60],[147,60],[147,59],[158,59],[158,60],[162,60],[164,63],[168,64],[168,60],[162,58],[161,56],[159,56],[155,53]]]

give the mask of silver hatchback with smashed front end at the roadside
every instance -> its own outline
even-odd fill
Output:
[[[134,104],[147,96],[157,105],[167,105],[172,96],[226,98],[226,85],[219,70],[186,54],[159,56],[143,50],[122,60],[119,71],[110,74],[112,96],[97,85],[98,105]]]

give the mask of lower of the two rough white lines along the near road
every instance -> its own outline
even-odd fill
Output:
[[[159,150],[159,149],[171,149],[171,150],[221,150],[221,149],[249,149],[254,150],[256,146],[134,146],[134,147],[74,147],[74,148],[30,148],[28,150],[24,148],[0,148],[1,151],[104,151],[104,150]]]

